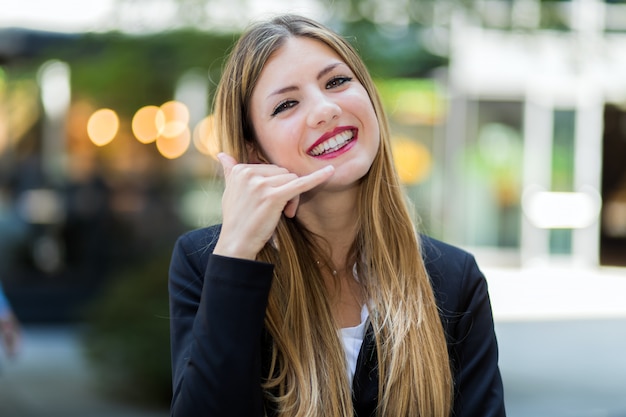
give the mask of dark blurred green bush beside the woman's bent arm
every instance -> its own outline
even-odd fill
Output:
[[[122,272],[89,306],[86,357],[114,398],[169,405],[168,265],[165,254]]]

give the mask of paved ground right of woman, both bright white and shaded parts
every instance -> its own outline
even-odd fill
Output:
[[[484,268],[509,417],[626,417],[626,269]]]

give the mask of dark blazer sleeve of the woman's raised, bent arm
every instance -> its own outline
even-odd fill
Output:
[[[171,415],[262,416],[261,342],[273,266],[213,255],[203,233],[181,236],[170,263]]]

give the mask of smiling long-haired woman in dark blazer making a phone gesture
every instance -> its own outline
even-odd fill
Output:
[[[363,62],[299,16],[215,100],[223,222],[170,267],[173,416],[504,416],[483,275],[416,233]]]

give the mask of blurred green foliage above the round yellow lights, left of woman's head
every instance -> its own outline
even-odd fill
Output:
[[[144,105],[171,100],[177,80],[191,68],[215,78],[235,37],[196,30],[142,36],[90,33],[48,55],[70,64],[72,91],[80,97],[132,117]]]

